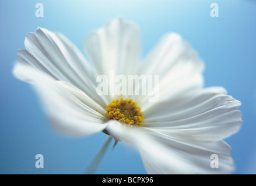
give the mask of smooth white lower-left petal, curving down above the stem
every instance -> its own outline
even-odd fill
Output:
[[[41,99],[52,126],[69,135],[90,135],[106,128],[106,110],[83,91],[64,81],[56,81],[33,67],[17,63],[19,77],[27,74]],[[22,77],[23,78],[23,77]]]

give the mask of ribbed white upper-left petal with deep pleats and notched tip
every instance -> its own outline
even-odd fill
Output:
[[[78,48],[64,35],[38,27],[36,33],[26,35],[24,44],[26,50],[17,51],[17,63],[30,65],[55,80],[66,81],[85,92],[94,101],[106,105],[103,99],[95,94],[96,77],[92,73],[92,68]],[[23,78],[16,77],[33,82],[26,74],[23,74]]]

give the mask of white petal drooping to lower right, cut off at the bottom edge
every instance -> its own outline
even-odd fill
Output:
[[[106,130],[116,141],[138,148],[149,174],[230,174],[234,170],[231,148],[221,140],[182,142],[143,127],[127,128],[114,120],[108,122]],[[212,166],[212,155],[218,156],[218,165]]]

